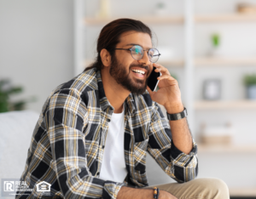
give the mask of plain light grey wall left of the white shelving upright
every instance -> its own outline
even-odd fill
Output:
[[[0,78],[36,96],[41,111],[50,91],[73,77],[73,1],[0,0]]]

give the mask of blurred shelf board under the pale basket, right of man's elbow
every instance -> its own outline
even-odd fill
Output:
[[[256,145],[203,145],[198,144],[199,153],[224,153],[224,152],[247,152],[256,153]]]

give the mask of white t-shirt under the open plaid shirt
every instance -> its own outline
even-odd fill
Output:
[[[125,108],[121,113],[113,113],[108,123],[108,134],[102,160],[100,179],[124,182],[127,175],[125,167]]]

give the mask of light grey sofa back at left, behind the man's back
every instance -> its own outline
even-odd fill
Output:
[[[39,114],[34,111],[0,113],[0,176],[20,179]]]

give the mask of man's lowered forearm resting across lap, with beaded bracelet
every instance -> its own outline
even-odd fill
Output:
[[[153,196],[153,189],[136,189],[122,186],[119,190],[117,199],[148,199],[153,198]],[[172,194],[166,192],[165,190],[160,190],[159,199],[177,199],[177,197],[172,196]]]

